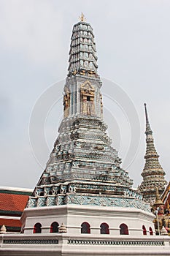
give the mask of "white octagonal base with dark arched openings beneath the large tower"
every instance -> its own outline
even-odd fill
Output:
[[[137,208],[112,208],[104,206],[80,206],[63,205],[41,208],[26,208],[21,217],[24,226],[24,233],[33,233],[36,222],[41,223],[42,233],[50,233],[50,225],[58,222],[64,223],[68,234],[81,236],[82,222],[90,224],[90,233],[101,236],[100,225],[106,222],[109,225],[111,236],[120,236],[120,224],[128,226],[128,233],[131,236],[142,236],[142,225],[146,227],[149,235],[149,228],[154,225],[154,215]]]

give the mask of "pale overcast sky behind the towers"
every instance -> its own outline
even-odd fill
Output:
[[[123,167],[137,187],[147,102],[169,181],[170,1],[0,0],[1,186],[34,188],[45,168],[62,118],[72,26],[81,12],[95,34],[104,120]]]

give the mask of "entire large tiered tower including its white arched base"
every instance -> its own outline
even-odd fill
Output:
[[[44,222],[44,228],[57,218],[58,223],[66,225],[68,233],[73,230],[80,233],[81,222],[87,218],[98,233],[100,224],[96,224],[93,216],[100,222],[101,212],[104,220],[112,214],[109,225],[116,227],[111,228],[112,233],[119,233],[123,218],[128,219],[130,225],[133,223],[132,230],[141,233],[141,223],[137,222],[137,227],[130,220],[140,211],[143,211],[143,223],[149,225],[148,219],[152,219],[150,206],[132,189],[133,182],[120,167],[121,160],[106,133],[96,61],[93,29],[82,16],[72,31],[63,120],[45,171],[23,213],[25,233],[34,226],[33,216],[34,222]],[[129,211],[133,214],[127,216]],[[114,218],[117,213],[120,224],[117,217]]]

